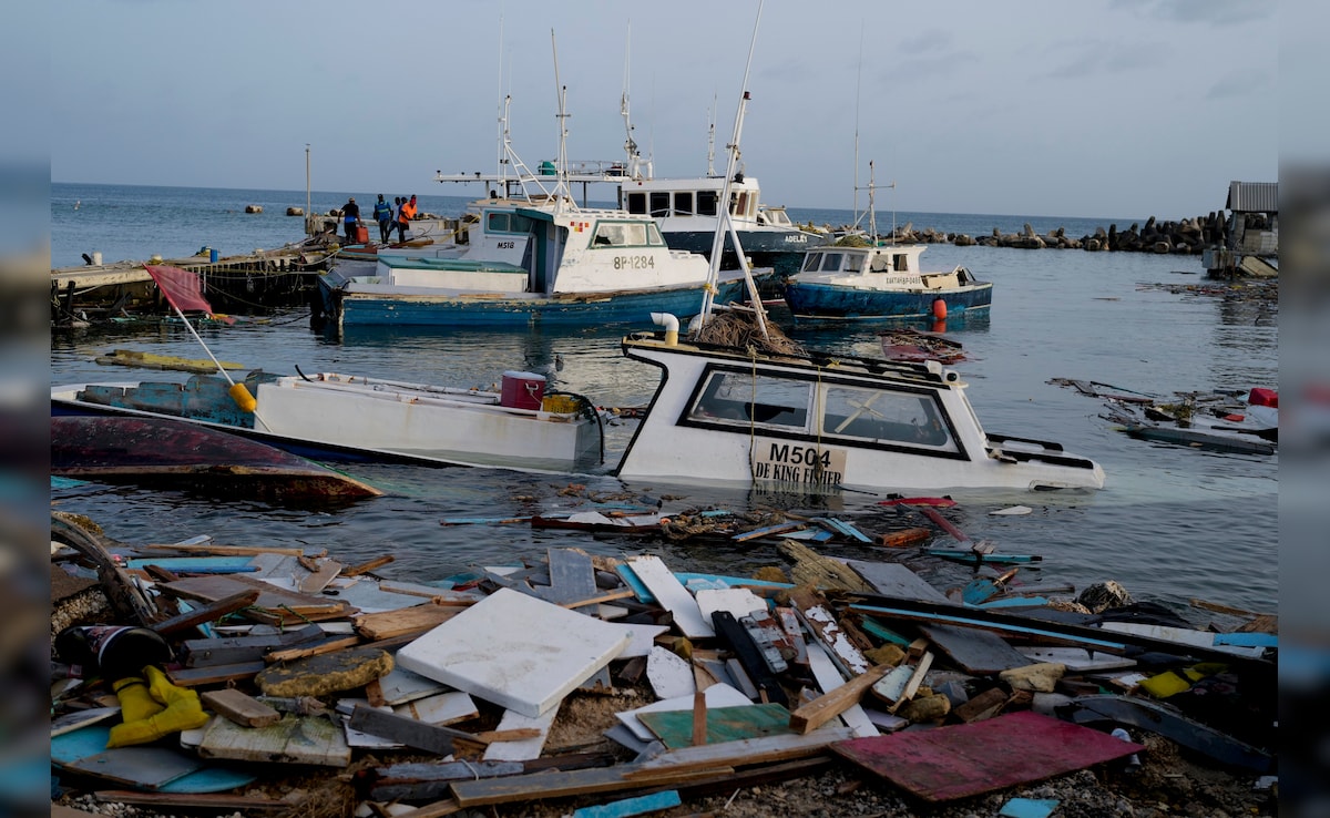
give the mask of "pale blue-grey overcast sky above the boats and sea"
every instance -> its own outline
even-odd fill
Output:
[[[763,201],[1185,218],[1278,173],[1275,4],[1261,0],[63,0],[52,15],[57,182],[363,193],[492,172],[501,94],[531,166],[716,168],[749,45],[742,158]],[[553,33],[553,37],[552,37]],[[552,45],[553,41],[553,45]],[[858,150],[855,149],[858,145]],[[858,162],[855,156],[858,154]],[[858,168],[858,172],[857,172]],[[861,194],[862,197],[863,194]],[[861,200],[863,201],[863,200]]]

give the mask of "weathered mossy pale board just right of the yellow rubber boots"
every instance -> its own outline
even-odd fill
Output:
[[[351,763],[351,748],[346,744],[342,725],[319,716],[290,713],[267,728],[242,728],[225,718],[214,718],[203,733],[198,754],[237,761],[325,766]]]

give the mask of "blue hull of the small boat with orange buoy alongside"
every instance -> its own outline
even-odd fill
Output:
[[[785,302],[795,321],[923,318],[935,315],[934,303],[939,298],[947,315],[987,310],[992,305],[992,283],[948,290],[868,290],[799,281],[785,285]]]

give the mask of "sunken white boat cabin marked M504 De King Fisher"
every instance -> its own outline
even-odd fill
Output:
[[[1059,443],[986,432],[964,380],[936,360],[684,342],[677,319],[656,318],[664,331],[621,341],[661,370],[621,479],[805,492],[1104,485],[1097,463]]]

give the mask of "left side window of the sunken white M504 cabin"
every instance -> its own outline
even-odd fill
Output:
[[[712,372],[688,416],[742,428],[765,426],[806,431],[811,400],[813,384],[807,380]]]

